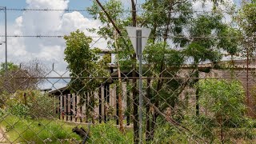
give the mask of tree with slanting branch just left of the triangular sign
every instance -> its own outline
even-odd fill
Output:
[[[134,1],[133,1],[134,2]],[[126,37],[125,26],[129,26],[131,18],[127,17],[124,13],[124,7],[122,2],[117,0],[110,0],[102,5],[107,12],[102,12],[99,2],[94,2],[94,5],[87,8],[90,14],[94,16],[95,19],[99,19],[103,26],[99,27],[98,30],[93,29],[95,33],[102,35],[106,38],[108,47],[118,54],[118,67],[120,70],[133,70],[132,75],[136,77],[136,55],[131,46],[130,39]],[[107,17],[107,15],[109,17]],[[99,16],[99,17],[98,17]],[[134,18],[133,18],[134,19]],[[114,24],[113,24],[114,22]],[[133,22],[136,25],[136,22]],[[118,36],[115,36],[115,32],[118,32]],[[120,81],[120,78],[119,78]],[[134,142],[138,143],[138,89],[136,78],[133,79],[132,93],[133,93],[133,115],[134,115]],[[118,82],[120,83],[120,82]],[[120,87],[120,84],[119,84]],[[120,99],[120,98],[118,98]],[[130,107],[130,106],[128,106]],[[128,108],[130,110],[130,108]],[[119,114],[120,115],[120,114]],[[129,117],[129,116],[128,116]],[[119,117],[120,121],[120,117]],[[120,127],[122,130],[122,126]]]

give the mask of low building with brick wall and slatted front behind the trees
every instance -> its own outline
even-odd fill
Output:
[[[98,86],[98,90],[94,93],[90,93],[94,95],[94,98],[98,101],[98,105],[94,107],[94,118],[98,118],[98,122],[106,122],[108,118],[115,118],[114,116],[118,115],[118,94],[116,90],[116,84],[114,80],[118,79],[118,74],[114,71],[114,65],[110,65],[110,73],[111,78],[102,83],[101,86]],[[179,70],[179,75],[182,78],[187,78],[187,73],[194,69],[190,65],[182,66],[181,70]],[[255,82],[255,70],[256,65],[255,62],[251,62],[248,64],[244,60],[236,60],[231,65],[230,61],[222,61],[218,62],[218,66],[212,63],[201,64],[198,66],[198,70],[200,71],[199,77],[200,79],[207,78],[218,78],[218,79],[238,79],[242,82],[242,86],[246,91],[246,106],[247,106],[247,114],[250,117],[256,117],[256,101],[252,94],[252,90],[254,86],[256,86]],[[131,72],[122,72],[122,110],[123,114],[126,110],[127,106],[130,106],[131,103],[127,101],[128,98],[131,99],[131,94],[129,94],[127,89],[127,84],[131,81]],[[55,95],[58,99],[58,110],[56,111],[59,115],[63,111],[68,117],[66,120],[73,121],[71,116],[72,114],[81,114],[81,111],[86,109],[86,104],[84,106],[78,106],[79,96],[77,94],[70,94],[70,90],[68,87],[63,87],[58,90],[50,91],[50,94]],[[191,107],[192,114],[195,114],[195,90],[193,88],[186,88],[183,90],[182,94],[180,94],[180,99],[185,100],[186,94],[190,94],[190,98],[188,100],[189,106]],[[128,102],[128,103],[127,103]],[[168,109],[168,113],[171,113],[171,109]],[[206,110],[200,109],[200,113],[207,114]],[[116,118],[117,119],[117,118]],[[129,122],[130,122],[130,118]],[[117,121],[118,124],[118,121]]]

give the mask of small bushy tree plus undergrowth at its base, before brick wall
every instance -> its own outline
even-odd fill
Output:
[[[197,121],[202,128],[207,128],[202,129],[202,134],[209,134],[207,138],[213,140],[212,137],[216,136],[210,133],[216,130],[220,142],[224,143],[230,142],[234,127],[238,130],[247,129],[250,133],[253,125],[250,124],[250,118],[246,118],[246,97],[238,80],[202,80],[199,82],[199,90],[199,103],[205,113],[202,113]]]

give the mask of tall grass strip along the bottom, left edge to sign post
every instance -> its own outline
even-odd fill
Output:
[[[35,142],[35,143],[77,143],[81,142],[77,134],[72,132],[75,126],[88,126],[67,123],[60,120],[33,120],[7,116],[1,119],[2,126],[8,135],[9,142]],[[125,134],[120,133],[116,126],[111,124],[96,124],[90,126],[89,143],[133,143],[132,130],[126,130]]]

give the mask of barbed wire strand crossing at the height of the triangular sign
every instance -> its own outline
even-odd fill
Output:
[[[1,37],[8,37],[8,38],[63,38],[68,35],[0,35]],[[87,37],[90,38],[110,38],[110,36],[92,36],[92,35],[87,35]],[[118,36],[121,38],[136,38],[136,37],[130,37],[130,36]],[[77,37],[79,38],[79,37]],[[176,36],[176,35],[170,35],[170,36],[159,36],[159,37],[142,37],[142,38],[256,38],[256,36],[250,36],[250,37],[235,37],[235,36]]]

